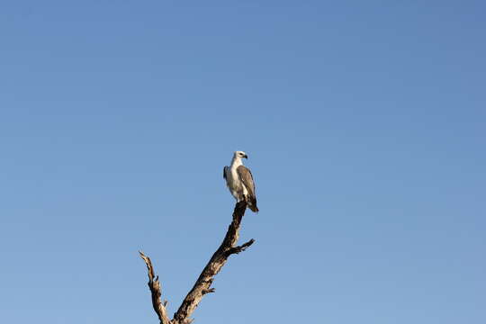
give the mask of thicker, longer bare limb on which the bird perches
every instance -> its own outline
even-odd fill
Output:
[[[250,239],[242,246],[235,247],[238,241],[240,223],[245,215],[246,209],[246,202],[238,202],[236,204],[235,210],[233,211],[233,220],[231,221],[231,224],[229,224],[226,236],[221,242],[220,247],[214,252],[210,261],[202,270],[201,275],[199,275],[199,278],[193,285],[193,289],[191,289],[191,291],[187,293],[187,296],[185,296],[184,302],[182,302],[179,310],[175,312],[173,320],[174,324],[185,324],[188,323],[189,320],[192,321],[189,317],[197,308],[199,302],[201,302],[202,296],[207,293],[214,293],[214,289],[211,288],[212,281],[214,280],[214,276],[220,272],[222,266],[225,265],[228,257],[232,254],[238,254],[239,252],[244,251],[255,242],[254,239]]]

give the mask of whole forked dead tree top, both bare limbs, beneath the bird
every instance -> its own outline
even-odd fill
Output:
[[[228,257],[243,252],[255,242],[255,239],[252,238],[241,246],[236,246],[241,220],[245,215],[246,209],[246,202],[238,202],[236,204],[233,211],[233,220],[229,224],[226,236],[223,238],[220,247],[212,255],[208,264],[204,266],[201,275],[199,275],[199,278],[197,278],[193,285],[193,289],[185,296],[181,306],[175,312],[173,320],[168,320],[165,304],[163,305],[160,302],[160,284],[158,283],[158,276],[155,281],[153,280],[154,272],[150,259],[140,252],[140,257],[143,258],[148,267],[148,287],[152,293],[152,305],[160,320],[160,324],[190,324],[193,321],[190,318],[191,314],[195,311],[199,302],[201,302],[202,296],[207,293],[214,293],[214,288],[211,288],[212,281],[214,280],[214,276],[218,275],[220,269],[226,264]]]

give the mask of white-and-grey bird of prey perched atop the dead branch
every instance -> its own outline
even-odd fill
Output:
[[[258,212],[253,175],[246,166],[243,166],[242,158],[248,158],[247,153],[234,152],[231,165],[223,168],[223,178],[226,180],[229,193],[237,202],[246,202],[251,211]]]

